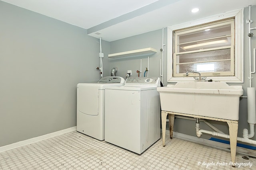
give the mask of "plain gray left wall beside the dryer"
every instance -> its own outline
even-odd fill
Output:
[[[76,84],[100,79],[99,39],[2,1],[0,25],[0,147],[76,126]]]

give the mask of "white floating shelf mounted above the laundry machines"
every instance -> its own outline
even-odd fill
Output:
[[[138,57],[143,55],[152,55],[156,53],[156,49],[153,48],[145,48],[145,49],[138,49],[138,50],[132,50],[132,51],[124,51],[121,53],[114,53],[109,54],[109,58],[120,58],[120,57]]]

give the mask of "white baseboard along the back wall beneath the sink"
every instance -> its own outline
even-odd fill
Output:
[[[166,135],[170,136],[170,131],[166,130]],[[208,139],[194,137],[194,136],[190,136],[190,135],[186,135],[186,134],[178,133],[178,132],[173,132],[173,137],[177,137],[179,139],[184,139],[186,141],[192,141],[194,143],[200,143],[202,145],[206,145],[206,146],[213,147],[213,148],[227,150],[230,152],[230,145],[226,144],[226,143],[211,141]],[[168,138],[166,138],[166,140],[168,140]],[[246,148],[242,148],[242,147],[236,147],[236,153],[246,155],[246,156],[256,157],[255,150],[246,149]]]

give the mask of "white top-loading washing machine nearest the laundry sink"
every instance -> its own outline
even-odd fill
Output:
[[[141,154],[160,139],[158,77],[129,77],[105,88],[105,141]]]

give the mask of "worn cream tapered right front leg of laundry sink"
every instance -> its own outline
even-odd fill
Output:
[[[231,152],[231,161],[236,163],[236,143],[237,143],[237,131],[238,131],[238,122],[232,123],[227,122],[229,127],[229,137],[230,137],[230,152]],[[235,166],[233,166],[235,167]]]

